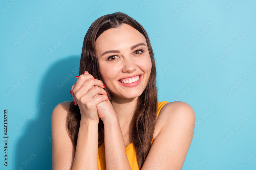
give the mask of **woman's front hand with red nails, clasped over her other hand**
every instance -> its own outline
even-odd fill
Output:
[[[102,115],[98,115],[97,105],[109,100],[103,88],[104,84],[94,79],[87,71],[77,78],[77,82],[71,88],[71,96],[74,103],[79,106],[81,121],[99,121]]]

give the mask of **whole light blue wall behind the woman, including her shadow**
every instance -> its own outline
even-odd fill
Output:
[[[58,103],[72,100],[70,88],[79,75],[83,38],[90,25],[119,11],[142,24],[151,39],[158,101],[184,101],[195,111],[194,137],[183,169],[256,169],[256,2],[99,2],[0,2],[0,168],[51,169],[52,110]],[[93,12],[88,14],[90,10]],[[70,28],[72,34],[63,38]],[[22,34],[26,36],[14,43]],[[61,45],[47,56],[58,41]],[[220,53],[222,58],[218,58]],[[40,102],[45,103],[43,107]],[[4,109],[8,109],[8,167],[3,165]],[[34,153],[35,158],[24,164]]]

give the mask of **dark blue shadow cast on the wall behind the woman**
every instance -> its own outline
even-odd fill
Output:
[[[17,142],[15,169],[52,169],[52,110],[60,102],[73,100],[70,89],[79,75],[79,62],[80,56],[67,57],[53,64],[42,77],[36,111],[31,113],[37,119],[29,120],[21,129],[25,132]]]

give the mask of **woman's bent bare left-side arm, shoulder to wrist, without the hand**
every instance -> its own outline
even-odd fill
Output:
[[[52,169],[98,170],[98,123],[81,122],[75,151],[66,128],[69,103],[62,102],[52,111]]]

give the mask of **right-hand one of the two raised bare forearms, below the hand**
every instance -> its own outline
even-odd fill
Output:
[[[102,121],[104,124],[106,169],[131,170],[118,116],[114,109],[111,109],[108,116]]]

